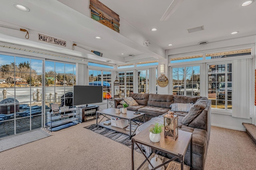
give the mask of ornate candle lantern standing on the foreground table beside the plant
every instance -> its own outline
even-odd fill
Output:
[[[178,115],[173,111],[168,111],[164,116],[164,137],[176,140],[178,138]]]

